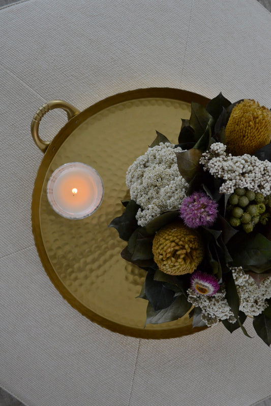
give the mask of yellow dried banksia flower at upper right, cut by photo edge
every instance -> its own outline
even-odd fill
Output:
[[[271,112],[258,101],[245,99],[233,108],[225,133],[229,153],[251,155],[270,142]]]

